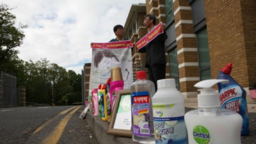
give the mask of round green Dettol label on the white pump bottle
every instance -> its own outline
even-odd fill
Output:
[[[196,125],[193,129],[193,137],[196,143],[198,144],[207,144],[211,141],[211,134],[202,125]]]

